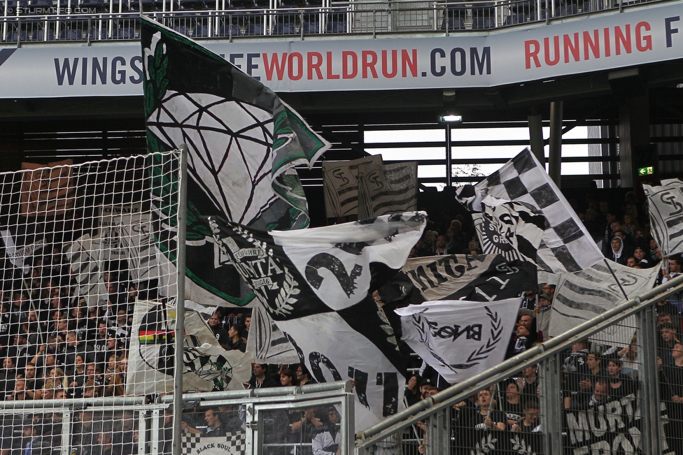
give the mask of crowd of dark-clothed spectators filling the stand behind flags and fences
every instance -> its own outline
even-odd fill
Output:
[[[573,200],[570,203],[605,257],[633,268],[659,267],[658,282],[666,282],[681,273],[683,261],[680,256],[662,257],[661,250],[649,236],[647,211],[638,210],[633,194],[626,195],[618,210],[611,210],[607,202],[598,202],[591,197],[586,197],[581,205]],[[456,215],[450,221],[444,217],[430,218],[410,255],[480,253],[472,219]],[[38,259],[29,273],[19,277],[19,284],[4,291],[0,305],[0,393],[3,399],[61,400],[124,395],[134,301],[138,294],[141,298],[155,297],[154,287],[148,284],[139,291],[127,277],[127,265],[114,261],[108,264],[104,273],[106,302],[103,299],[101,305],[88,305],[86,298],[78,296],[78,284],[62,249],[54,247],[51,254],[43,252],[35,257]],[[14,278],[17,282],[17,277]],[[554,300],[555,287],[539,284],[538,289],[519,291],[523,303],[509,341],[508,356],[547,340],[548,310]],[[381,303],[382,296],[375,295]],[[665,384],[663,399],[671,407],[672,416],[683,418],[683,390],[679,390],[683,387],[680,310],[680,303],[675,300],[658,305],[660,331],[657,341],[661,354],[661,382]],[[246,350],[251,328],[248,309],[218,308],[207,322],[225,349]],[[583,409],[605,396],[623,396],[635,391],[638,388],[637,346],[634,338],[628,346],[589,346],[579,342],[572,347],[563,372],[563,406]],[[419,359],[415,363],[416,356],[411,355],[406,360],[409,366],[415,367],[414,374],[407,380],[407,405],[449,387],[450,384],[430,366],[424,363],[420,366]],[[303,365],[255,363],[251,380],[245,387],[290,387],[314,382]],[[542,412],[537,396],[538,382],[535,368],[526,368],[454,407],[453,422],[463,428],[492,431],[541,431],[537,423],[537,414]],[[325,436],[318,438],[318,442],[324,445],[334,445],[338,438],[334,429],[338,416],[332,416],[332,411],[310,408],[286,413],[284,417],[274,419],[278,422],[274,424],[276,426],[282,422],[286,424],[273,428],[272,433],[280,435],[279,442],[310,443],[307,450],[316,455],[336,452],[323,450],[322,446],[316,452],[314,443],[321,434]],[[242,428],[237,410],[212,410],[210,416],[209,413],[206,410],[202,419],[189,419],[192,421],[186,422],[184,428],[190,433],[202,434]],[[38,440],[50,440],[50,444],[54,444],[55,438],[61,438],[59,414],[27,415],[31,416],[28,420],[13,418],[3,426],[2,449],[24,451],[31,441],[34,445]],[[213,419],[216,416],[220,421],[218,426],[217,420]],[[130,424],[134,420],[123,417],[111,414],[106,418],[93,418],[92,412],[79,412],[71,430],[73,438],[80,434],[80,439],[72,440],[74,447],[84,455],[109,454],[111,451],[113,455],[135,453],[136,428]],[[130,431],[122,433],[120,430],[124,428]],[[418,440],[424,437],[419,430],[414,436]]]

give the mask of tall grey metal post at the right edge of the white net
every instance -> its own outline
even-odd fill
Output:
[[[173,443],[172,454],[181,455],[183,447],[183,347],[185,345],[185,236],[187,232],[188,206],[188,146],[181,144],[180,168],[178,169],[178,210],[176,212],[176,326],[173,369]]]

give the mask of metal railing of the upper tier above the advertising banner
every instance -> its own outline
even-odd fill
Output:
[[[351,2],[279,8],[231,6],[228,0],[144,0],[155,20],[192,38],[386,34],[485,30],[661,0],[502,0]],[[233,0],[233,3],[237,1]],[[274,2],[270,2],[274,3]],[[192,9],[190,8],[197,8]],[[0,0],[0,41],[134,40],[139,1]]]

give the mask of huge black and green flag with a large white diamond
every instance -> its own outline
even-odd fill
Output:
[[[246,305],[253,294],[240,287],[234,267],[197,220],[220,215],[260,229],[307,226],[293,166],[312,166],[330,145],[274,92],[190,38],[143,16],[141,43],[148,150],[181,144],[189,150],[185,297]],[[175,214],[164,211],[164,194],[156,196],[161,222],[174,229]],[[174,258],[168,259],[172,267]]]

